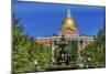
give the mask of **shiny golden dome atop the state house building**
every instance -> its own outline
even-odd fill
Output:
[[[63,21],[63,28],[70,28],[70,29],[76,29],[76,24],[75,21],[72,18],[66,18]]]

